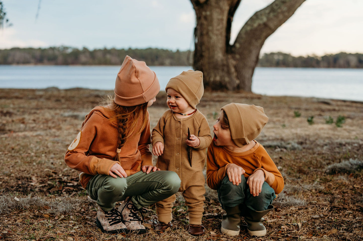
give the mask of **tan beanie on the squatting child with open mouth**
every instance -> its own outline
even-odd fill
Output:
[[[261,106],[230,103],[221,109],[227,115],[232,140],[238,147],[257,138],[269,120]]]

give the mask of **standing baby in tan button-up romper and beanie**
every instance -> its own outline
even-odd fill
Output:
[[[203,96],[203,73],[200,71],[183,71],[170,79],[166,85],[167,105],[170,110],[164,112],[158,124],[152,130],[152,152],[158,156],[156,166],[160,170],[178,173],[181,179],[179,192],[183,193],[188,206],[188,233],[204,233],[201,220],[205,201],[205,179],[203,167],[205,152],[211,144],[211,129],[207,119],[196,105]],[[188,140],[188,128],[190,138]],[[158,225],[156,230],[171,227],[172,207],[176,196],[156,203]]]

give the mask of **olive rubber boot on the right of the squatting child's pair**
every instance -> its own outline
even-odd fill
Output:
[[[273,210],[273,205],[269,205],[267,210],[264,211],[253,211],[247,208],[245,221],[247,223],[247,231],[250,236],[265,236],[266,228],[262,224],[265,219],[262,217],[266,215],[266,213]]]

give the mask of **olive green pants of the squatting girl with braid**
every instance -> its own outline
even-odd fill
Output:
[[[96,175],[87,184],[88,194],[105,211],[128,196],[137,208],[148,207],[177,193],[179,188],[180,178],[171,171],[140,171],[126,178]]]

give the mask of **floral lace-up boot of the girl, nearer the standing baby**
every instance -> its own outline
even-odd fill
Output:
[[[125,202],[118,208],[118,211],[121,212],[123,221],[129,232],[135,232],[137,234],[146,233],[146,228],[141,224],[141,221],[144,219],[142,214],[145,211],[143,208],[136,208],[131,201],[131,197],[126,198]],[[141,213],[141,217],[139,216],[139,212]]]

